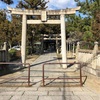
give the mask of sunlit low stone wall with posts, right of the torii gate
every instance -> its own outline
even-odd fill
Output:
[[[100,51],[97,42],[93,50],[80,49],[78,44],[76,56],[76,61],[81,62],[83,71],[100,77]]]

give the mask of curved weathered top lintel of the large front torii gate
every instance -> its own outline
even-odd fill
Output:
[[[10,8],[8,7],[8,10],[11,11],[12,14],[26,14],[26,15],[41,15],[42,11],[45,11],[48,15],[61,15],[61,14],[73,14],[77,10],[80,9],[79,7],[76,8],[69,8],[69,9],[62,9],[62,10],[28,10],[28,9],[18,9],[18,8]]]

